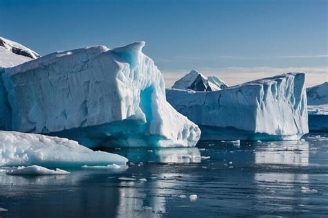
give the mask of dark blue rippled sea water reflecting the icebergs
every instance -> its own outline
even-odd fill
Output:
[[[135,163],[125,171],[0,172],[0,217],[328,217],[328,134],[304,140],[110,150]]]

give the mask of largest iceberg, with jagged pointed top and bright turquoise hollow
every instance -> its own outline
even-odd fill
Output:
[[[88,147],[196,145],[199,127],[166,102],[144,45],[79,48],[6,69],[0,127]]]

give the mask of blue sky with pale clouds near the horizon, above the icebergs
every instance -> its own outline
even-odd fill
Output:
[[[290,71],[328,81],[327,0],[0,0],[0,36],[40,55],[142,40],[167,87],[192,69],[230,85]]]

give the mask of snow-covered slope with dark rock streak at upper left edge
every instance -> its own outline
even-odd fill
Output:
[[[12,67],[40,57],[37,53],[17,42],[0,37],[0,68]]]

